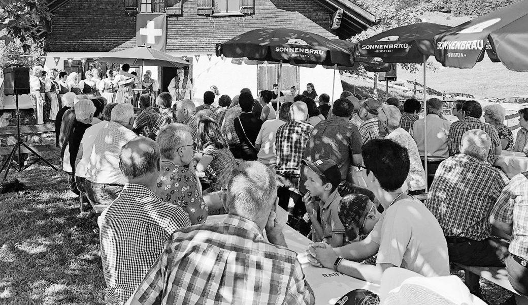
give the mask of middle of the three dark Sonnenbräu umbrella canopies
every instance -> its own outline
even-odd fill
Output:
[[[435,54],[436,34],[451,29],[450,26],[420,22],[395,27],[356,44],[357,54],[363,57],[380,57],[384,62],[423,63]],[[356,56],[356,61],[362,59]]]

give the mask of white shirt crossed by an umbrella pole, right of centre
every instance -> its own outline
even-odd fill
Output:
[[[412,137],[416,144],[418,144],[418,151],[420,156],[424,156],[423,150],[425,134],[423,128],[423,118],[414,122],[412,127]],[[427,115],[427,156],[434,157],[437,159],[447,159],[449,157],[449,144],[447,142],[449,135],[449,128],[451,122],[447,119],[442,119],[436,114]]]

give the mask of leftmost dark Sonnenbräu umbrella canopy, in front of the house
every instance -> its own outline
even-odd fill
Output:
[[[259,29],[216,44],[216,56],[299,64],[350,64],[351,51],[323,36],[292,29]]]

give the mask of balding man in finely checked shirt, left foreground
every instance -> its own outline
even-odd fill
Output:
[[[154,192],[159,158],[158,144],[147,137],[129,141],[119,154],[128,183],[98,220],[106,304],[125,304],[169,236],[191,225],[180,206],[163,202]]]

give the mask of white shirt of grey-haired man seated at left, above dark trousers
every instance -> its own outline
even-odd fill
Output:
[[[121,147],[137,135],[127,127],[116,122],[105,122],[93,140],[90,162],[86,179],[96,183],[126,183],[119,169]]]

